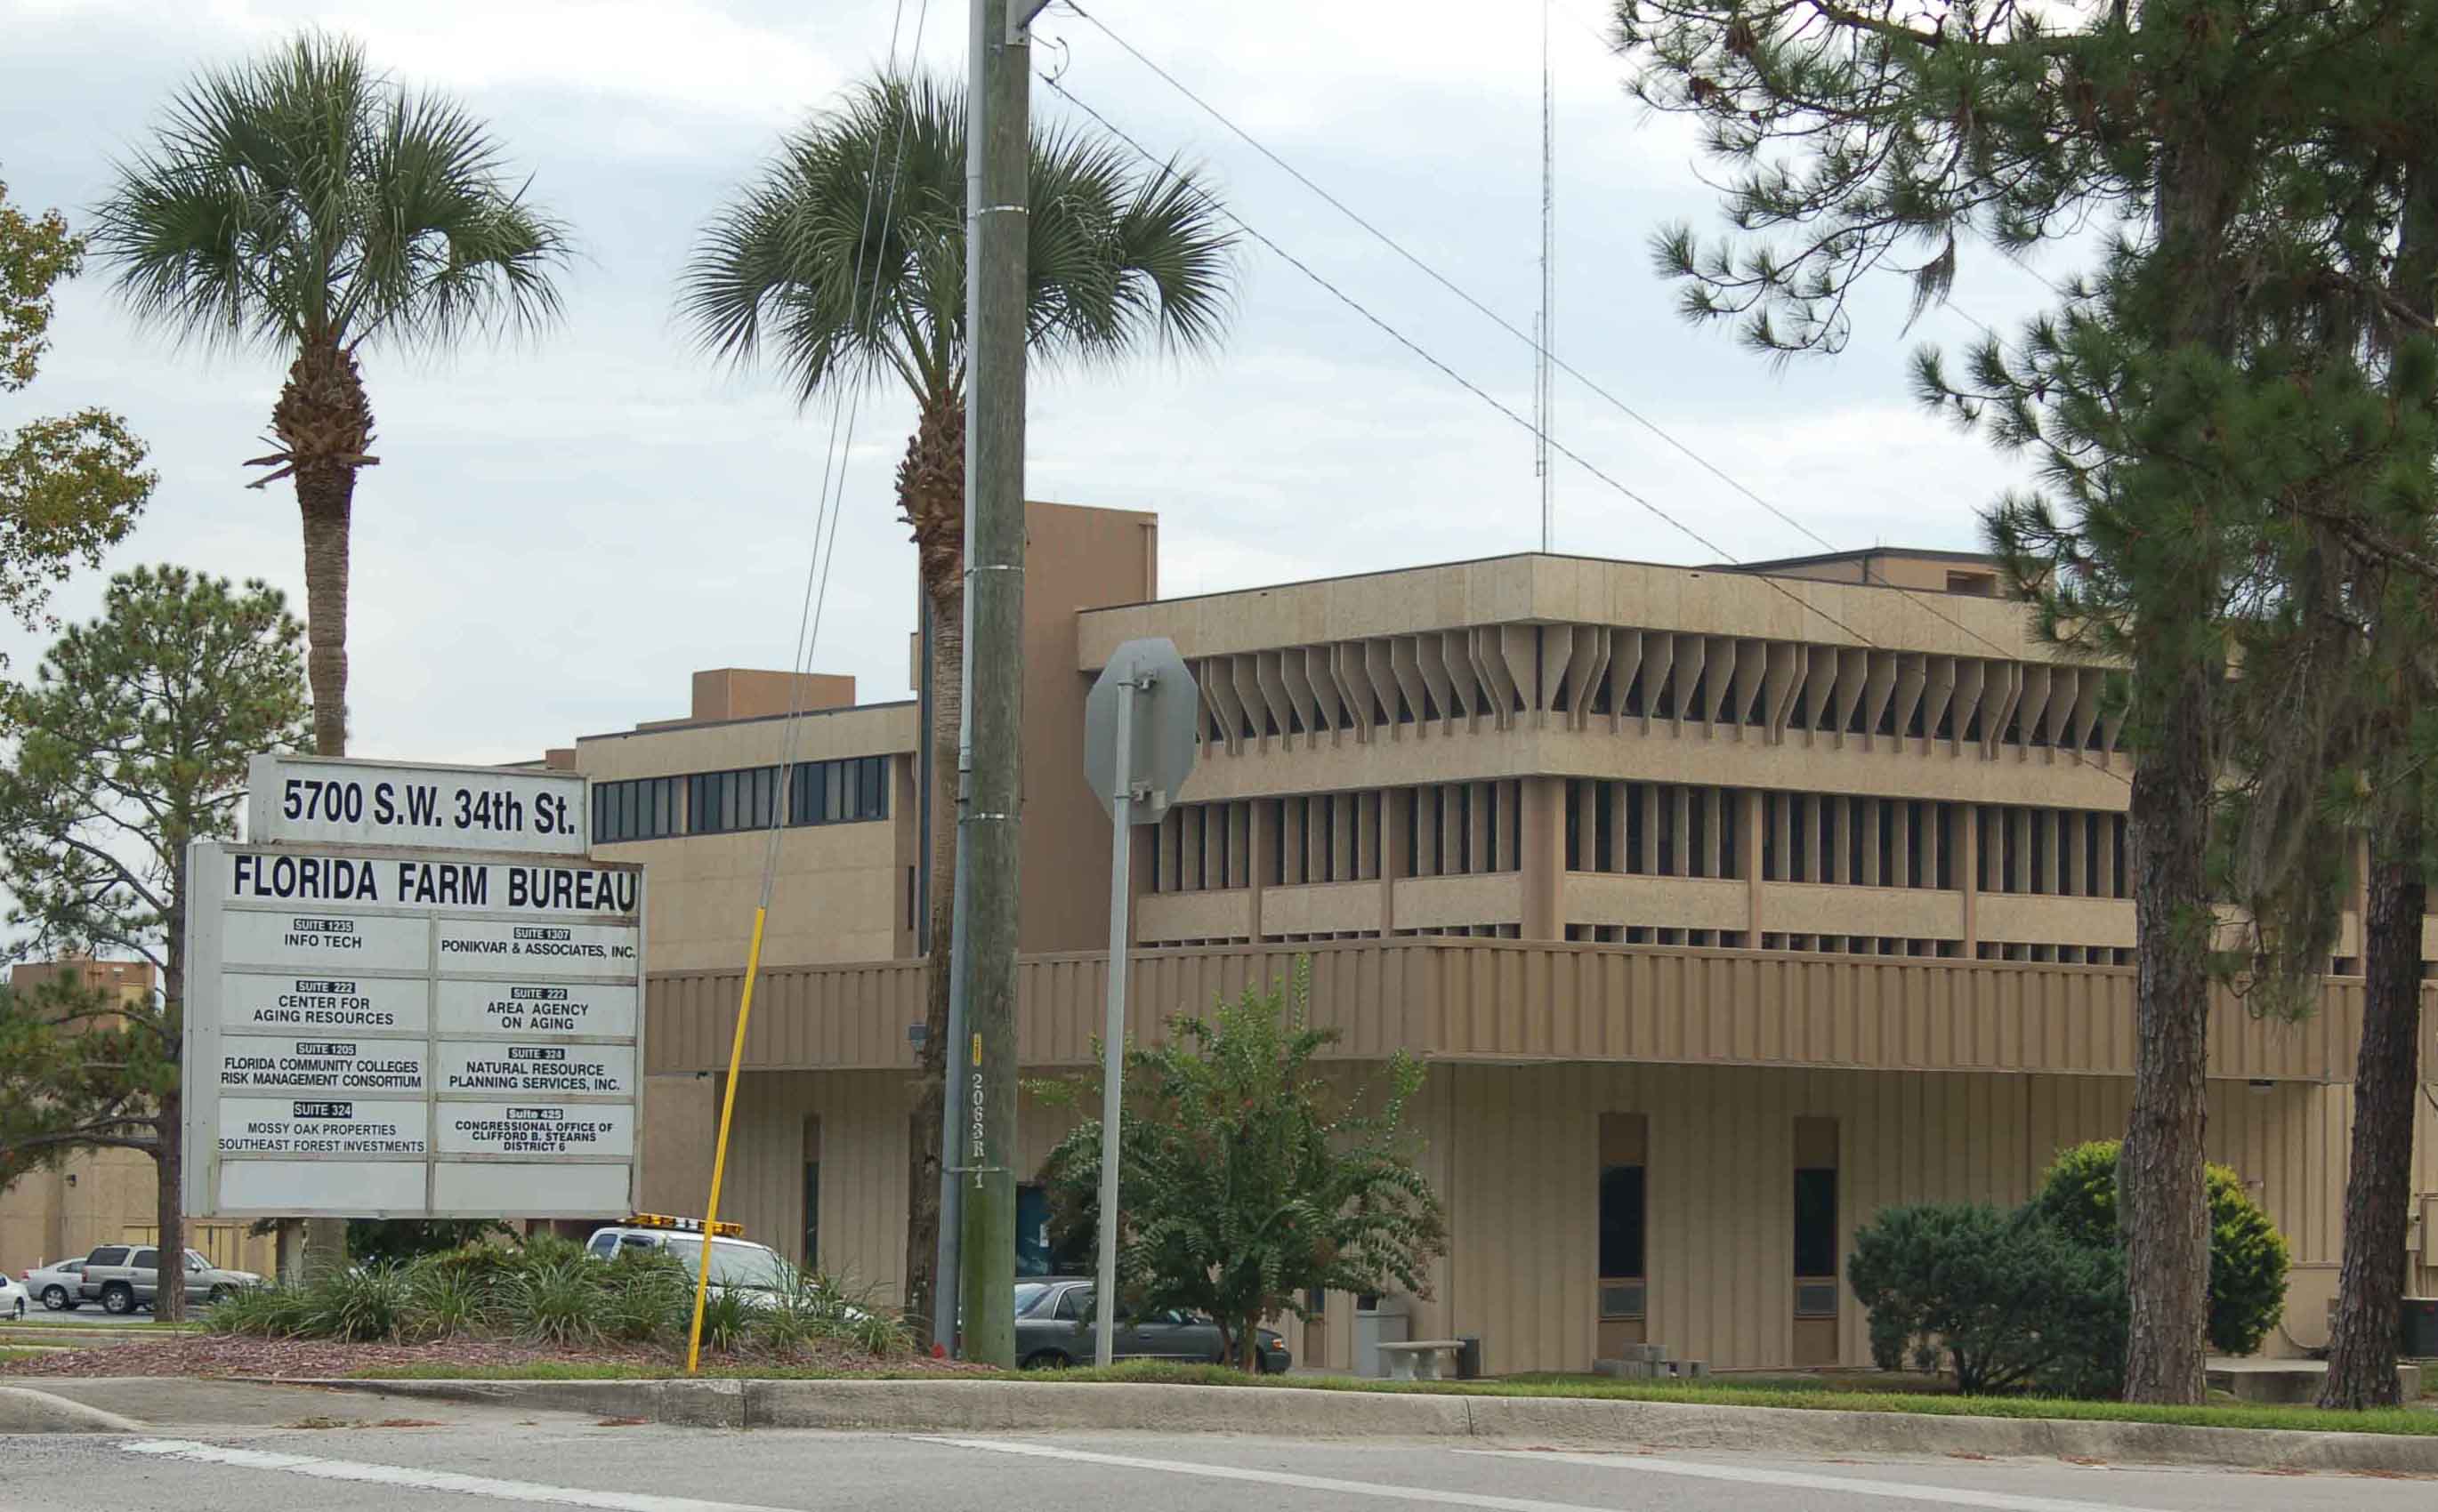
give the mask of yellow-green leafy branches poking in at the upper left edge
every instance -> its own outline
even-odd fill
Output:
[[[51,344],[51,290],[85,263],[85,239],[56,210],[27,217],[0,183],[0,393],[34,380]],[[51,583],[134,527],[156,476],[144,441],[107,410],[78,410],[0,429],[0,610],[44,624]]]

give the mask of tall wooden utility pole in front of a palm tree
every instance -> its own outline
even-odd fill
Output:
[[[963,1044],[948,1046],[965,1190],[965,1358],[1017,1363],[1017,812],[1024,793],[1024,271],[1031,39],[1043,0],[973,0],[965,141],[965,666],[973,780]]]

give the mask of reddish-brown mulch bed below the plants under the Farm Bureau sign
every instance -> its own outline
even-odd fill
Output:
[[[139,1344],[102,1344],[22,1361],[0,1361],[0,1380],[22,1375],[205,1375],[205,1378],[341,1378],[366,1371],[402,1368],[502,1368],[534,1363],[636,1366],[641,1371],[683,1373],[685,1351],[644,1344],[595,1344],[563,1349],[517,1344],[507,1339],[444,1339],[436,1344],[336,1344],[329,1339],[236,1339],[190,1334],[183,1339],[144,1339]],[[934,1361],[922,1356],[873,1358],[856,1351],[739,1351],[702,1356],[705,1371],[736,1373],[763,1368],[868,1373],[978,1375],[990,1366]]]

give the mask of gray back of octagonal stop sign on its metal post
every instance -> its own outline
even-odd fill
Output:
[[[1202,693],[1168,639],[1126,641],[1082,707],[1082,773],[1109,810],[1109,1017],[1100,1046],[1100,1271],[1092,1363],[1107,1366],[1117,1319],[1117,1134],[1126,1054],[1126,936],[1134,827],[1158,824],[1195,771]]]

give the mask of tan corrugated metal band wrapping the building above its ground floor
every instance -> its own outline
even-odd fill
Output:
[[[1312,1015],[1341,1032],[1338,1058],[1407,1049],[1473,1061],[1670,1061],[2033,1071],[2128,1075],[2133,975],[2114,968],[1680,951],[1494,939],[1146,951],[1129,1027],[1153,1044],[1180,1012],[1312,963]],[[912,1068],[926,966],[780,968],[758,990],[746,1063],[758,1071]],[[651,978],[653,1073],[724,1071],[734,973]],[[1100,956],[1019,963],[1029,1066],[1082,1066],[1102,1024]],[[2260,1022],[2231,993],[2211,1010],[2211,1075],[2343,1080],[2360,1024],[2358,983],[2331,983],[2304,1024]]]

